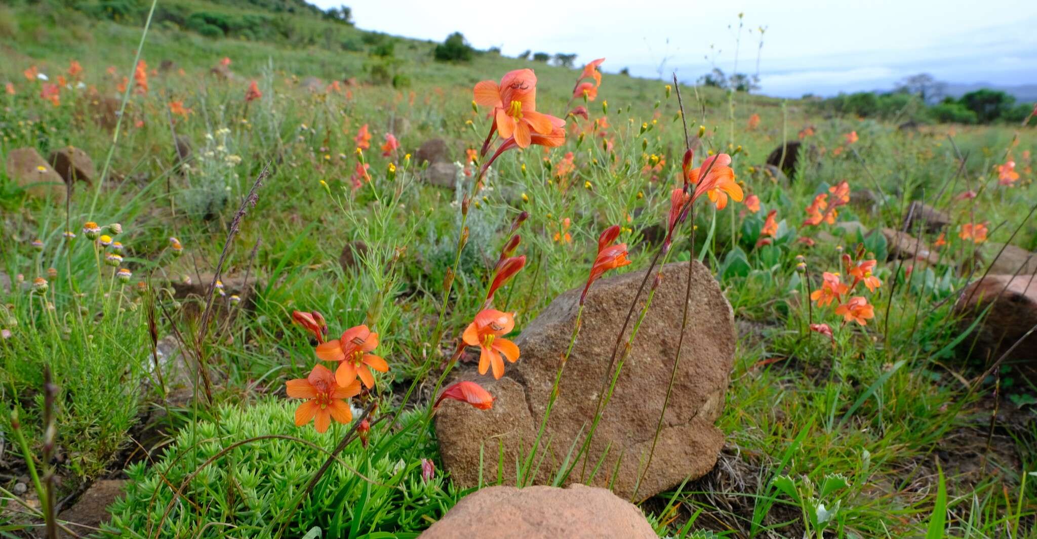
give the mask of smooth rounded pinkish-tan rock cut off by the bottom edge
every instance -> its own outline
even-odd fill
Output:
[[[655,539],[636,506],[584,485],[492,486],[472,492],[420,539]]]

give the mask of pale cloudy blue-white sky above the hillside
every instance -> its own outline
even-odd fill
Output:
[[[606,73],[676,72],[684,82],[713,65],[756,74],[759,53],[761,93],[776,96],[892,89],[918,73],[952,84],[1037,85],[1035,0],[362,0],[349,7],[365,30],[433,40],[459,31],[475,48],[508,56],[605,57]]]

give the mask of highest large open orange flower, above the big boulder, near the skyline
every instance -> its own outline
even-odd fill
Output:
[[[520,148],[533,144],[532,134],[551,135],[554,127],[565,121],[549,114],[536,112],[536,75],[533,69],[515,69],[501,79],[482,81],[475,85],[475,103],[494,108],[494,126],[502,139],[514,138]],[[555,120],[561,121],[558,124]]]

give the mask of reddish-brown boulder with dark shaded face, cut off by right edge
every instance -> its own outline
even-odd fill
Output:
[[[972,357],[992,362],[1037,327],[1037,279],[1033,275],[988,275],[970,284],[954,305],[960,315],[962,330],[972,325],[989,306],[986,317],[976,328],[976,334],[963,341],[968,349],[976,339]],[[1018,363],[1030,375],[1037,373],[1037,333],[1027,337],[1006,358]]]

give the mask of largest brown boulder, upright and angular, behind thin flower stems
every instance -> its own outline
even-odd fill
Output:
[[[641,324],[629,358],[616,382],[587,454],[574,463],[567,483],[605,486],[630,499],[651,450],[658,414],[663,409],[674,352],[680,337],[688,262],[663,267],[662,281]],[[584,308],[582,330],[565,367],[559,397],[541,438],[537,483],[548,483],[569,448],[583,445],[593,420],[601,385],[612,357],[616,335],[644,277],[634,272],[601,279],[591,287]],[[543,418],[559,359],[565,352],[576,323],[581,289],[556,297],[515,339],[522,357],[507,366],[505,376],[479,382],[497,400],[489,410],[461,403],[444,404],[436,430],[443,463],[463,487],[479,481],[480,449],[483,478],[496,478],[501,448],[503,477],[515,477],[520,452],[528,454]],[[643,302],[645,292],[640,302]],[[664,427],[651,465],[637,487],[647,498],[676,486],[684,478],[698,478],[712,469],[724,444],[724,433],[713,422],[724,407],[728,374],[734,356],[735,333],[731,306],[712,275],[695,262],[692,296],[680,366]],[[633,325],[633,324],[632,324]],[[627,329],[627,335],[632,331]],[[626,342],[624,336],[623,342]],[[463,377],[475,377],[471,372]],[[546,451],[542,445],[551,441]],[[605,456],[598,473],[590,472]],[[588,457],[589,455],[589,457]],[[488,457],[487,457],[488,456]],[[620,460],[617,467],[617,460]],[[587,465],[584,466],[585,460]],[[584,476],[583,472],[587,471]],[[616,477],[613,478],[613,471]]]

